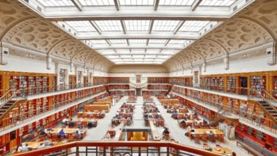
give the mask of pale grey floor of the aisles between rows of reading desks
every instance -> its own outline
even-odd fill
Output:
[[[104,119],[98,120],[98,125],[96,128],[91,128],[87,131],[87,136],[84,137],[83,141],[100,141],[102,137],[104,137],[107,130],[111,127],[111,119],[113,116],[115,116],[116,112],[119,110],[120,106],[127,101],[127,96],[124,96],[121,98],[121,100],[116,103],[116,105],[112,106],[110,109],[110,112],[106,114]],[[157,100],[157,98],[154,97],[154,103],[156,103],[157,107],[159,108],[163,118],[165,119],[165,125],[170,130],[170,138],[175,139],[175,141],[179,141],[179,144],[184,144],[186,146],[193,146],[195,148],[202,148],[203,142],[201,144],[195,144],[195,141],[191,141],[188,137],[186,137],[184,134],[187,132],[184,128],[179,128],[179,125],[177,124],[177,120],[172,119],[171,114],[168,114],[166,112],[166,109],[163,108],[161,103]],[[134,117],[133,121],[134,123],[129,126],[129,128],[145,128],[144,121],[143,121],[143,110],[141,109],[143,104],[143,98],[142,96],[138,97],[138,100],[134,105],[136,105],[136,108],[134,109]],[[161,127],[156,128],[160,135],[162,135]],[[112,140],[112,139],[111,139]],[[224,138],[225,143],[220,143],[217,141],[216,143],[208,142],[208,144],[211,147],[215,147],[216,144],[220,144],[222,147],[229,148],[233,150],[237,155],[251,155],[247,153],[247,150],[244,150],[244,148],[237,146],[236,141],[229,140],[227,138]],[[75,149],[71,149],[75,150]],[[82,150],[82,148],[80,148]],[[82,155],[82,153],[81,153]]]

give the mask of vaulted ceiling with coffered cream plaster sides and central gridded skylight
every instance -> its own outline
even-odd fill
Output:
[[[172,70],[276,41],[276,7],[273,0],[0,0],[0,40],[105,70]]]

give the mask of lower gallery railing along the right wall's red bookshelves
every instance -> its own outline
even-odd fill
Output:
[[[215,103],[214,101],[209,101],[206,98],[199,98],[199,97],[195,97],[195,96],[191,96],[191,95],[184,95],[183,93],[180,92],[174,92],[172,91],[173,94],[177,94],[177,96],[181,96],[184,98],[187,98],[188,100],[193,99],[195,101],[197,101],[197,103],[201,104],[201,105],[205,105],[208,107],[213,107],[215,110],[220,110],[222,107],[224,108],[225,112],[222,114],[226,117],[229,118],[233,118],[233,119],[240,119],[242,121],[245,121],[247,123],[251,123],[253,125],[256,125],[260,128],[263,128],[265,130],[268,130],[270,132],[274,132],[277,133],[277,126],[274,125],[274,123],[269,120],[266,119],[264,116],[265,114],[251,114],[247,111],[243,111],[243,110],[239,110],[236,109],[235,107],[229,107],[227,105],[223,105],[223,103]]]

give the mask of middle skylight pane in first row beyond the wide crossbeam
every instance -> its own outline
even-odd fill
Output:
[[[150,20],[125,20],[127,31],[148,31]]]

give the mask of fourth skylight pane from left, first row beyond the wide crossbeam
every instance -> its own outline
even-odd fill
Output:
[[[155,20],[152,31],[174,31],[180,21]]]

